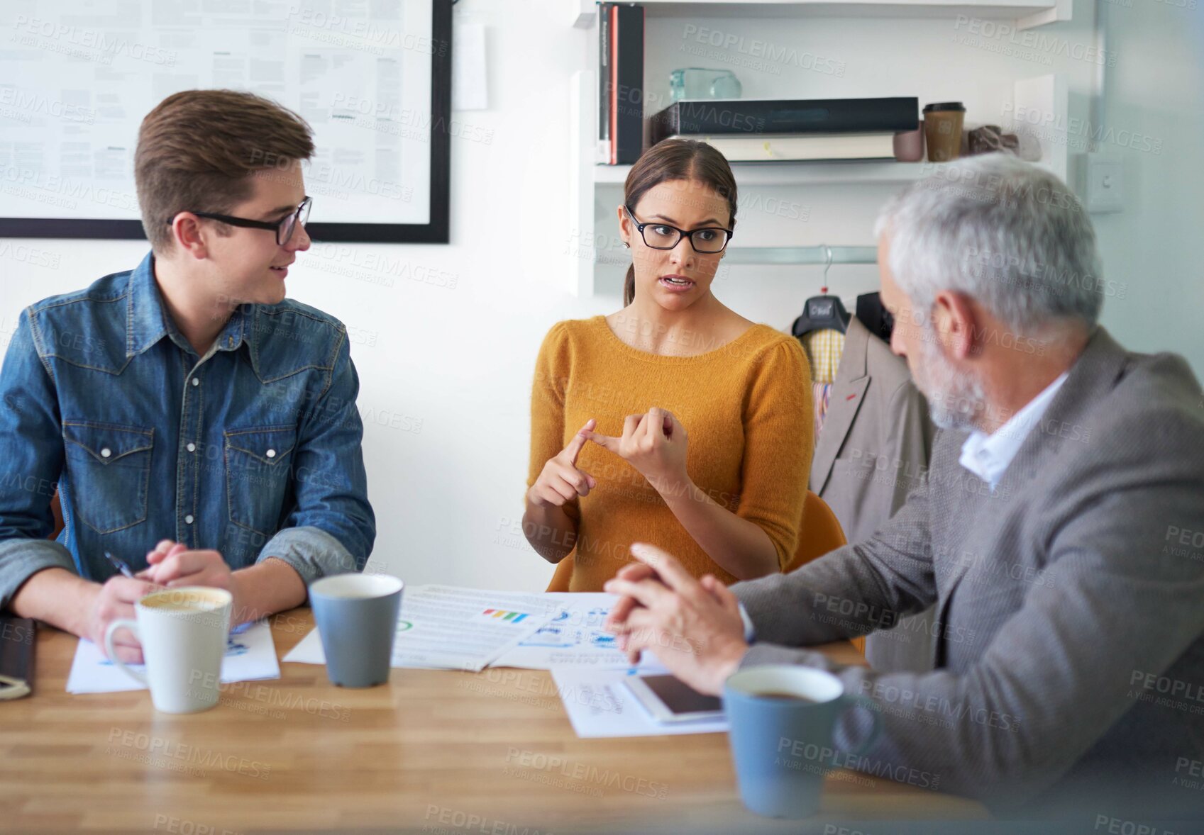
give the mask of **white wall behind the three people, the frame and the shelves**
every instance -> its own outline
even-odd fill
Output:
[[[596,30],[571,29],[566,6],[562,0],[462,0],[456,7],[460,19],[489,26],[491,107],[458,114],[465,134],[484,134],[490,141],[453,140],[450,245],[360,244],[348,256],[313,250],[297,260],[288,279],[294,297],[354,328],[360,408],[367,419],[365,457],[379,521],[373,564],[408,582],[542,588],[550,575],[517,525],[535,355],[554,321],[620,304],[616,276],[604,283],[603,295],[576,300],[563,291],[560,274],[572,236],[565,219],[568,78],[588,66],[590,41],[597,36]],[[1043,31],[1090,46],[1092,11],[1090,0],[1079,0],[1075,20]],[[1186,25],[1193,12],[1133,0],[1133,7],[1114,13],[1123,23],[1112,45],[1117,63],[1109,118],[1164,136],[1165,143],[1161,155],[1119,152],[1132,160],[1129,208],[1098,219],[1097,227],[1108,274],[1127,280],[1133,291],[1121,302],[1109,300],[1104,319],[1137,348],[1187,354],[1200,373],[1204,339],[1196,312],[1204,308],[1204,289],[1188,247],[1198,238],[1204,166],[1199,129],[1176,116],[1194,112],[1198,119],[1202,101],[1200,67]],[[650,20],[649,34],[675,48],[684,40],[684,23]],[[763,32],[749,20],[710,25]],[[961,99],[972,119],[980,112],[978,122],[997,120],[999,102],[1010,99],[1010,81],[1002,78],[1051,71],[1067,73],[1073,105],[1086,116],[1094,73],[1093,65],[1063,55],[1052,54],[1045,64],[1039,54],[1017,58],[954,42],[961,30],[952,20],[796,20],[773,31],[775,42],[844,61],[844,77],[797,66],[773,72],[714,60],[706,65],[733,66],[749,97],[793,89],[809,96]],[[727,60],[739,58],[733,52]],[[667,96],[668,70],[697,63],[673,49],[650,54],[653,91]],[[135,129],[131,124],[131,135]],[[870,243],[874,211],[887,193],[872,185],[787,193],[780,196],[808,208],[805,221],[742,211],[739,235],[745,243],[780,243],[783,236],[799,244]],[[612,200],[618,193],[602,196]],[[751,205],[752,199],[749,193],[742,202]],[[320,207],[314,219],[319,214]],[[0,255],[0,340],[22,306],[131,268],[146,249],[138,242],[11,243],[48,250],[58,256],[58,267],[19,261],[16,247]],[[379,277],[372,280],[355,266],[368,253],[400,255],[409,276],[427,271],[436,280],[395,277],[393,286]],[[340,277],[336,268],[362,280]],[[445,286],[453,277],[454,289]],[[830,280],[851,301],[874,288],[875,274],[872,267],[836,267]],[[818,286],[816,268],[730,267],[716,291],[745,315],[785,328]],[[419,431],[395,428],[418,427],[418,421]]]

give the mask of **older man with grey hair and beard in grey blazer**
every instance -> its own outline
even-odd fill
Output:
[[[607,584],[624,596],[612,628],[708,693],[755,664],[831,670],[878,704],[883,733],[830,764],[927,775],[1007,815],[1200,816],[1199,384],[1097,324],[1122,288],[1102,279],[1082,206],[1037,166],[945,166],[878,235],[891,348],[944,430],[926,484],[869,539],[731,590],[633,546],[641,563]],[[932,604],[931,673],[803,649]],[[860,713],[838,740],[860,736]]]

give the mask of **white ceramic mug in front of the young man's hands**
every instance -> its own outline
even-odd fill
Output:
[[[113,621],[105,650],[113,663],[150,688],[165,713],[195,713],[218,703],[222,658],[230,634],[234,596],[224,588],[182,586],[147,594],[134,604],[136,621]],[[146,674],[117,658],[113,634],[129,629],[142,644]]]

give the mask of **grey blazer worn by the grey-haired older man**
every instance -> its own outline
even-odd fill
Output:
[[[830,669],[874,700],[881,736],[838,765],[997,812],[1204,815],[1188,787],[1204,759],[1204,397],[1187,363],[1097,328],[993,492],[958,464],[964,438],[937,437],[927,484],[870,538],[732,586],[756,633],[742,665]],[[933,603],[931,673],[797,649]],[[838,740],[866,722],[846,712]]]

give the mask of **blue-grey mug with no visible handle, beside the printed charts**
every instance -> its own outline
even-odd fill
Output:
[[[372,687],[389,681],[405,586],[388,574],[336,574],[309,586],[330,683]]]

